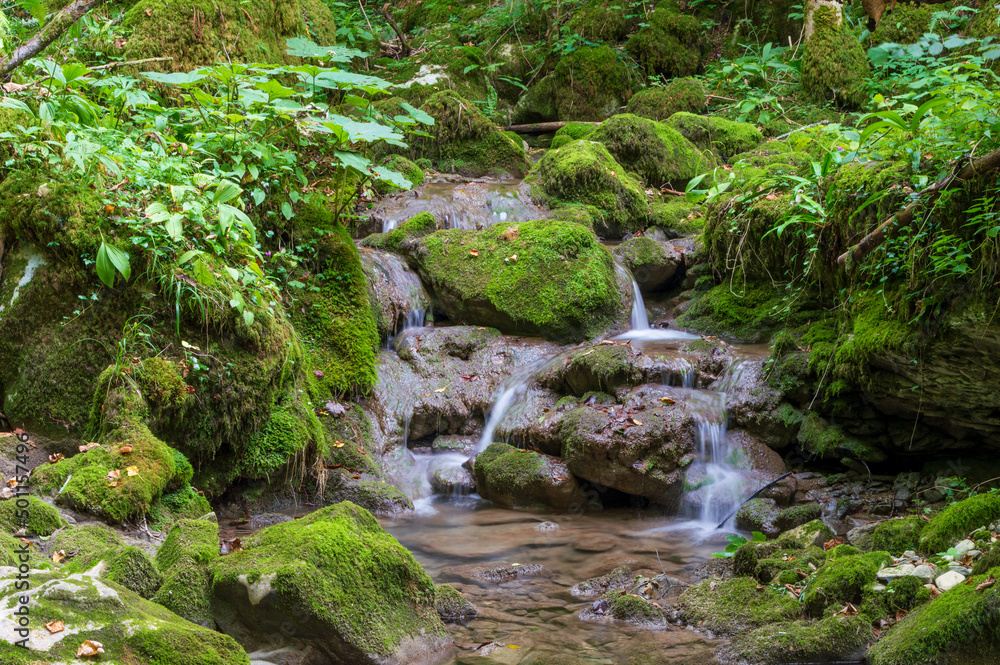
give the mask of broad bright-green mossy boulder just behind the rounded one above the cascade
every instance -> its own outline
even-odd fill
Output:
[[[688,180],[715,167],[680,132],[664,123],[623,113],[605,120],[590,139],[603,144],[616,162],[653,186],[683,189]]]

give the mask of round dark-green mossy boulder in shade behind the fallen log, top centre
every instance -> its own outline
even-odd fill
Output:
[[[608,46],[583,46],[556,64],[543,94],[559,120],[603,120],[632,96],[635,75]]]

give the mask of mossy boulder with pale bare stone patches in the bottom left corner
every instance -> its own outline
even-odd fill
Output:
[[[15,593],[10,571],[0,576],[0,620],[9,621],[20,595],[30,596],[31,663],[71,662],[67,654],[87,639],[103,645],[99,660],[109,665],[250,665],[233,638],[185,621],[108,579],[85,572],[36,571],[31,589]],[[65,629],[49,633],[44,624],[50,621],[61,621]],[[17,658],[6,662],[29,662],[20,660],[22,655]]]

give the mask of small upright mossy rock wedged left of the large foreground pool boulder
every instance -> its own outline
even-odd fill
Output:
[[[153,600],[188,621],[213,626],[209,564],[218,556],[216,522],[179,520],[156,552],[156,566],[163,574],[163,584]]]

